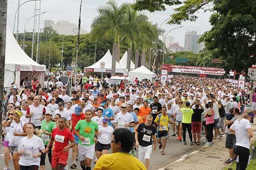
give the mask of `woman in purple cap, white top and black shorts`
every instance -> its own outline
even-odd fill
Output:
[[[114,129],[108,125],[107,118],[102,119],[102,125],[99,126],[99,133],[97,135],[98,142],[96,144],[96,157],[99,159],[101,155],[108,154],[111,148],[111,134]]]

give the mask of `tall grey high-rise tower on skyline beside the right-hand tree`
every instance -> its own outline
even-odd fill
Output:
[[[198,40],[201,36],[202,35],[197,34],[197,31],[186,32],[184,51],[199,53],[203,48],[203,43],[198,43]]]

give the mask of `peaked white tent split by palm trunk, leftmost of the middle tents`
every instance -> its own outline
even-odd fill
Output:
[[[101,62],[105,63],[105,66],[103,69],[100,67]],[[84,67],[84,71],[86,72],[111,72],[111,69],[112,69],[112,55],[110,54],[110,50],[108,50],[108,52],[106,52],[106,54],[93,65]],[[116,73],[127,75],[126,69],[123,66],[121,66],[117,61],[116,61]]]

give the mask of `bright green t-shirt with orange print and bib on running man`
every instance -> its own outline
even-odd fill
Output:
[[[98,130],[98,124],[96,122],[91,121],[88,123],[86,120],[79,120],[75,126],[75,130],[79,131],[79,134],[85,138],[83,141],[79,139],[78,144],[86,146],[95,144],[94,135],[95,131]]]

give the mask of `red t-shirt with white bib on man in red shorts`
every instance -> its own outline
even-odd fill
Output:
[[[59,130],[59,127],[53,129],[52,139],[54,140],[54,150],[53,151],[62,151],[69,141],[74,141],[74,136],[68,128],[64,128],[62,131]]]

